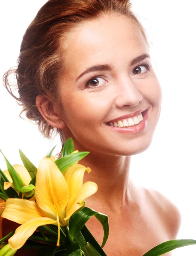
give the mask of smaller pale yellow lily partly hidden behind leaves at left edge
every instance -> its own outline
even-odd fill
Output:
[[[13,167],[14,167],[15,171],[17,172],[17,174],[20,176],[20,178],[23,180],[24,186],[28,186],[30,181],[32,180],[32,178],[31,178],[29,172],[27,171],[27,169],[20,164],[14,164]],[[8,170],[5,170],[3,173],[8,177],[8,179],[10,181],[10,182],[5,181],[3,188],[5,190],[8,189],[9,187],[14,188],[13,180],[12,180],[12,177],[10,176]]]

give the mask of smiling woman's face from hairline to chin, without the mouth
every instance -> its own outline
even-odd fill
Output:
[[[130,64],[149,54],[138,26],[123,15],[87,21],[63,47],[66,71],[59,94],[65,137],[95,154],[128,156],[148,148],[159,120],[161,88],[153,68],[145,66],[152,64],[150,57]],[[97,65],[108,68],[85,72]],[[146,109],[142,131],[120,133],[106,124]]]

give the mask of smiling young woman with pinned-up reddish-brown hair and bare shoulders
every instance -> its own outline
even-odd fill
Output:
[[[161,111],[147,37],[129,1],[49,0],[26,30],[12,72],[17,101],[43,136],[56,130],[62,144],[72,137],[75,150],[90,151],[80,163],[92,169],[84,181],[98,192],[86,206],[109,216],[107,255],[142,256],[176,239],[177,207],[129,175],[131,156],[149,147]],[[98,221],[86,226],[101,243]]]

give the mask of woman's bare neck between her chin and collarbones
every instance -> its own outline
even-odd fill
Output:
[[[136,186],[129,178],[130,160],[130,156],[98,155],[91,152],[79,161],[92,169],[91,173],[84,175],[84,182],[93,181],[98,185],[98,191],[85,200],[86,206],[98,211],[107,209],[120,213],[127,206],[138,204]]]

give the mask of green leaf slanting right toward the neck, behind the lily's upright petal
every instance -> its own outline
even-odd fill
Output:
[[[61,157],[55,161],[55,164],[58,166],[58,169],[65,175],[66,170],[69,169],[75,162],[86,157],[90,152],[78,152],[74,154],[69,154],[65,157]]]

